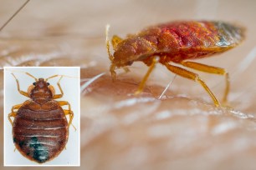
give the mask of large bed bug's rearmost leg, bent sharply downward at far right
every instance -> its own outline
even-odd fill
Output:
[[[225,92],[223,95],[223,103],[228,102],[228,92],[229,92],[229,88],[230,88],[230,82],[229,82],[229,74],[228,74],[228,72],[226,72],[225,69],[223,69],[221,67],[212,67],[212,66],[208,66],[208,65],[205,65],[202,63],[197,63],[197,62],[181,62],[181,64],[185,67],[191,67],[192,69],[199,70],[202,72],[209,72],[209,73],[225,76],[226,88],[225,88]]]

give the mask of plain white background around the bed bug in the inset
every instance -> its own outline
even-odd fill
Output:
[[[77,128],[74,131],[72,126],[69,127],[69,141],[62,153],[52,161],[38,164],[24,158],[21,153],[14,150],[12,126],[8,121],[8,113],[11,112],[13,105],[20,104],[28,100],[18,92],[16,81],[11,75],[12,70],[18,78],[20,89],[27,92],[28,86],[33,84],[35,80],[23,72],[29,72],[34,77],[51,77],[55,74],[66,75],[71,77],[63,77],[60,86],[64,91],[64,96],[57,101],[68,101],[74,112],[73,125]],[[22,71],[22,72],[15,72]],[[54,86],[55,93],[59,94],[57,82],[59,77],[49,79],[49,83]],[[64,108],[68,108],[64,106]],[[69,117],[68,117],[69,118]],[[4,164],[10,165],[70,165],[79,166],[79,67],[5,67],[4,68]]]

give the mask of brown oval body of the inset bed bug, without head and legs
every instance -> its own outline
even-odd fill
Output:
[[[18,109],[13,143],[24,157],[37,163],[49,161],[64,149],[68,137],[68,122],[58,102],[39,105],[28,100]]]

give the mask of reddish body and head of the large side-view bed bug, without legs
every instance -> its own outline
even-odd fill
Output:
[[[244,37],[244,28],[214,21],[177,21],[129,35],[115,47],[117,67],[160,56],[160,62],[181,62],[225,52]]]

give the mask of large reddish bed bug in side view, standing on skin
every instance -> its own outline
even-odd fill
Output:
[[[209,57],[238,46],[243,41],[244,28],[220,21],[163,23],[146,28],[134,35],[129,35],[125,39],[113,36],[111,40],[115,51],[113,54],[110,52],[108,30],[109,27],[106,28],[106,47],[111,61],[110,72],[113,79],[116,78],[115,68],[117,67],[125,68],[138,61],[144,62],[149,67],[136,94],[143,91],[147,78],[156,63],[160,62],[169,71],[199,82],[212,97],[212,101],[217,107],[220,106],[220,102],[197,73],[177,65],[225,76],[226,88],[223,102],[227,102],[229,92],[228,72],[221,67],[212,67],[189,60]]]

